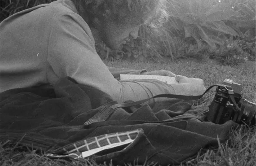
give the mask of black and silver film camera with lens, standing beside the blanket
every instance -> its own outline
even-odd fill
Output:
[[[231,100],[230,94],[234,96],[233,100]],[[216,124],[223,124],[229,120],[238,124],[254,124],[256,122],[256,104],[242,97],[241,84],[225,79],[223,86],[219,85],[216,88],[215,97],[209,106],[207,120]]]

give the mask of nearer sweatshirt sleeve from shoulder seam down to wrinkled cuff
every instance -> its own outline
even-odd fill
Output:
[[[106,92],[119,103],[158,94],[175,94],[172,85],[157,80],[116,80],[98,56],[88,25],[76,13],[56,17],[49,38],[47,61],[49,83],[70,76],[79,84]]]

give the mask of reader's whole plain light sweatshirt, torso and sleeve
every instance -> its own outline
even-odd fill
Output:
[[[119,103],[182,91],[181,86],[157,80],[118,81],[110,70],[71,0],[26,9],[0,23],[0,92],[54,85],[66,76],[106,92]]]

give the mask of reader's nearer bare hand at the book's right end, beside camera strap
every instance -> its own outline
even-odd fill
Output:
[[[176,75],[175,80],[182,85],[184,92],[182,95],[198,96],[205,92],[203,79],[188,78],[182,75]]]

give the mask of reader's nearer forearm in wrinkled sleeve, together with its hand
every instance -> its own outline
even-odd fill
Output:
[[[177,76],[179,83],[167,84],[158,80],[122,80],[118,82],[119,89],[113,90],[111,93],[113,98],[119,103],[126,100],[143,100],[159,94],[175,94],[185,96],[199,96],[202,95],[206,88],[203,85],[203,80],[195,78],[187,78],[184,76]],[[117,93],[119,95],[117,95]],[[163,98],[155,98],[149,103]]]

